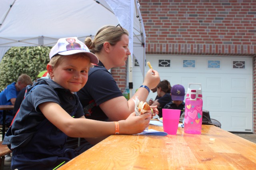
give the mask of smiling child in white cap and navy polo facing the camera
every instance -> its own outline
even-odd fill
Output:
[[[16,114],[3,144],[12,149],[12,169],[54,169],[75,156],[76,150],[64,147],[67,136],[94,138],[111,134],[136,134],[148,127],[151,113],[125,121],[101,122],[85,119],[76,95],[88,80],[91,63],[98,58],[80,44],[70,47],[61,38],[50,51],[47,71],[50,79],[38,79],[27,87],[25,99]],[[71,45],[72,46],[72,45]]]

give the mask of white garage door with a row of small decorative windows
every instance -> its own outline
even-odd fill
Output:
[[[134,60],[134,90],[142,84],[140,68]],[[171,85],[201,83],[203,109],[231,132],[253,132],[252,57],[216,57],[194,55],[147,55],[161,80]],[[148,70],[148,66],[146,71]],[[150,92],[147,100],[155,98]]]

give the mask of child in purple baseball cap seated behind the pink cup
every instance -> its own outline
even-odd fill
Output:
[[[178,109],[180,110],[180,116],[184,112],[185,103],[185,88],[183,85],[174,85],[171,89],[172,101],[164,106],[164,109]]]

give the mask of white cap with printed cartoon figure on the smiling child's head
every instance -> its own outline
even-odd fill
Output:
[[[76,37],[60,38],[52,47],[49,57],[51,59],[56,54],[72,55],[76,53],[86,53],[90,57],[91,63],[99,63],[98,57],[94,53],[91,53],[88,47]]]

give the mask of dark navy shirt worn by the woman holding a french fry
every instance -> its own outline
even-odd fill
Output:
[[[111,73],[99,62],[98,65],[90,69],[86,85],[77,92],[82,107],[95,102],[95,106],[90,109],[90,115],[85,115],[87,119],[106,121],[108,117],[100,109],[99,105],[110,99],[122,96],[116,81]],[[114,111],[113,111],[114,112]],[[118,113],[117,113],[118,114]]]

